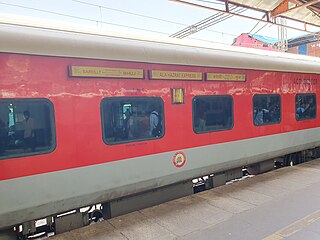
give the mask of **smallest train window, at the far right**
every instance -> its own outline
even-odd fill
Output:
[[[317,101],[315,94],[296,95],[296,119],[308,120],[316,118]]]

